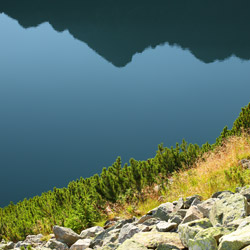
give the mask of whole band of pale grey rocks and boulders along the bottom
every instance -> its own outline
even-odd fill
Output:
[[[19,250],[250,250],[250,188],[223,191],[202,201],[195,195],[167,202],[140,219],[106,222],[76,234],[54,226],[47,242],[29,235],[17,243],[1,242],[0,249]]]

